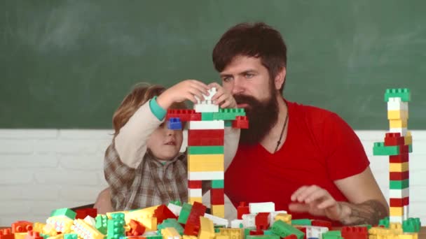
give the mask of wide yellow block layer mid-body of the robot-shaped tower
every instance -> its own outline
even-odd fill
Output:
[[[224,154],[189,154],[188,171],[224,171]]]

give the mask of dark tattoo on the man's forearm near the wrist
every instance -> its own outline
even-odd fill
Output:
[[[350,210],[348,217],[342,219],[342,223],[345,225],[377,225],[380,219],[388,215],[385,205],[376,200],[359,204],[343,203],[344,206],[347,206]]]

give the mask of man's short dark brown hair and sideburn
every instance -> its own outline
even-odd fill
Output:
[[[287,46],[280,32],[263,22],[244,22],[228,29],[214,46],[214,68],[219,72],[224,71],[234,57],[239,55],[259,57],[271,79],[275,79],[280,70],[287,67]],[[281,94],[284,83],[280,89]]]

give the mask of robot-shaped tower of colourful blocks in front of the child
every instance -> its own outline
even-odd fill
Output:
[[[224,129],[247,129],[249,122],[244,109],[221,109],[212,103],[216,92],[209,89],[193,110],[167,110],[166,120],[169,129],[181,129],[181,122],[188,122],[188,203],[202,203],[202,181],[211,181],[212,214],[224,217]]]

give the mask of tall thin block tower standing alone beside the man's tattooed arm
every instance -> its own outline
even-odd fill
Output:
[[[389,133],[385,141],[374,143],[373,155],[389,156],[390,222],[403,224],[409,213],[408,153],[412,152],[413,139],[408,126],[409,89],[387,89],[387,119]]]

